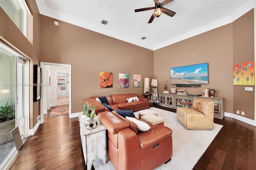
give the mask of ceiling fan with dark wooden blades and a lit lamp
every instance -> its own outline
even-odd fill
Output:
[[[135,12],[141,12],[141,11],[146,11],[146,10],[152,10],[155,9],[152,16],[150,17],[148,23],[151,23],[155,17],[159,17],[162,12],[164,12],[164,14],[173,17],[176,12],[173,12],[171,10],[168,10],[166,8],[164,8],[163,6],[165,6],[166,4],[169,4],[170,2],[172,2],[173,0],[164,0],[164,2],[159,3],[159,0],[154,0],[155,2],[155,6],[154,7],[148,7],[148,8],[140,8],[137,10],[134,10]]]

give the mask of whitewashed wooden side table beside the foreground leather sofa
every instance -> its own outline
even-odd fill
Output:
[[[92,163],[96,158],[100,158],[103,164],[106,164],[106,128],[98,121],[96,128],[88,130],[84,127],[85,119],[82,119],[81,114],[79,114],[79,119],[80,136],[87,170],[91,170]]]

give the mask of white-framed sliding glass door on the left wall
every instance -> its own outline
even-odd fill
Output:
[[[11,131],[24,138],[24,63],[17,53],[0,44],[0,167],[16,153]],[[26,130],[25,130],[26,131]],[[27,135],[25,135],[27,137]]]

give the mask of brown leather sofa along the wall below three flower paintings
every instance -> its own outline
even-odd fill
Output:
[[[95,106],[95,113],[98,114],[103,111],[109,111],[102,103],[97,102],[96,98],[97,97],[102,97],[102,96],[94,96],[90,97],[87,99],[84,99],[84,102],[88,103],[90,106]],[[108,103],[110,107],[114,111],[118,109],[122,110],[131,110],[131,111],[140,111],[143,109],[148,109],[149,108],[149,101],[148,98],[143,98],[139,97],[139,95],[131,93],[131,94],[114,94],[114,95],[109,95],[105,96],[108,99]],[[127,98],[130,97],[138,97],[140,101],[133,101],[128,103]]]

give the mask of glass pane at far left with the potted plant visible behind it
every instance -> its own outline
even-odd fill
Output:
[[[2,1],[2,0],[1,0]],[[16,127],[16,57],[0,48],[0,163],[14,147],[11,131]]]

